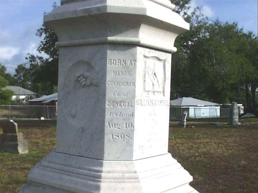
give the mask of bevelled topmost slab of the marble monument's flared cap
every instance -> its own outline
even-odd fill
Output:
[[[144,0],[129,4],[128,2],[116,4],[115,2],[79,1],[56,7],[52,12],[44,15],[44,22],[58,21],[69,18],[87,17],[99,14],[131,14],[143,15],[152,19],[176,26],[181,29],[179,33],[189,30],[189,24],[181,16],[172,10],[173,4],[160,0]],[[166,5],[166,6],[165,6]],[[160,14],[162,13],[162,14]]]

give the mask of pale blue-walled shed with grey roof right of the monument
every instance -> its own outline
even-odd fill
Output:
[[[170,119],[181,119],[184,111],[188,112],[188,119],[220,117],[218,103],[182,97],[170,101]]]

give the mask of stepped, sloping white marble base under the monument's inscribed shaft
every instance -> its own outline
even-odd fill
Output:
[[[19,193],[198,193],[171,155],[103,161],[52,152],[36,164]]]

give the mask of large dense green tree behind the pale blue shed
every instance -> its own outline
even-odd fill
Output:
[[[175,46],[172,98],[236,101],[244,103],[246,112],[257,114],[257,38],[251,32],[244,33],[236,23],[199,17],[176,39]]]

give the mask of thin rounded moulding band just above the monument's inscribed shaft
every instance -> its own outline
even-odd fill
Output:
[[[82,39],[82,40],[71,40],[71,41],[59,41],[56,42],[56,47],[69,47],[69,46],[85,46],[85,45],[94,45],[94,44],[129,44],[129,45],[138,45],[149,47],[153,49],[163,50],[165,52],[176,52],[176,47],[165,46],[160,43],[150,43],[140,38],[122,38],[122,37],[105,37],[105,38],[92,38],[92,39]]]

